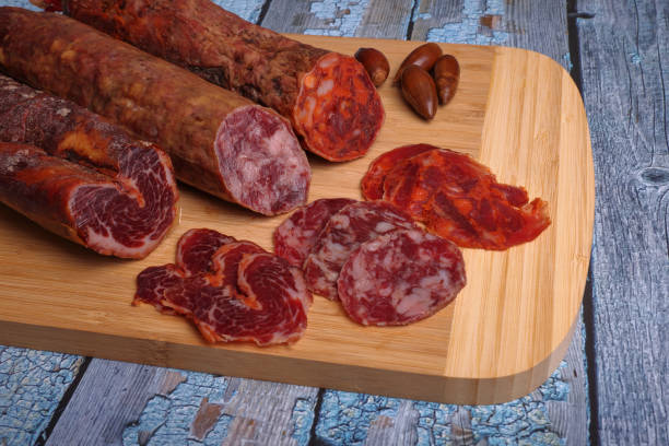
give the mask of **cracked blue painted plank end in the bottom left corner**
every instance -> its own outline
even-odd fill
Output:
[[[77,355],[0,347],[0,444],[35,444],[82,363]]]

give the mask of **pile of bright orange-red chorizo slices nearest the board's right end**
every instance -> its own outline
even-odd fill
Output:
[[[550,224],[548,203],[497,183],[470,156],[426,144],[398,148],[372,163],[365,197],[406,210],[425,227],[460,247],[503,250],[539,236]],[[395,167],[390,167],[394,162]]]

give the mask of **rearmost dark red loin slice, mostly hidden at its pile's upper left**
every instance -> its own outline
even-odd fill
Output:
[[[189,230],[177,244],[176,265],[187,274],[209,272],[212,257],[223,245],[236,242],[234,237],[208,228]]]

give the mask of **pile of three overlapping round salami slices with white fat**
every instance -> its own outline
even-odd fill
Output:
[[[466,284],[462,255],[384,201],[320,199],[274,232],[274,250],[314,293],[362,325],[407,325],[448,305]]]

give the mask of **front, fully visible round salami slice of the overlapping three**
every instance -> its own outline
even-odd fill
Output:
[[[466,283],[457,246],[420,230],[399,230],[363,243],[344,263],[337,286],[354,321],[398,326],[444,308]]]

